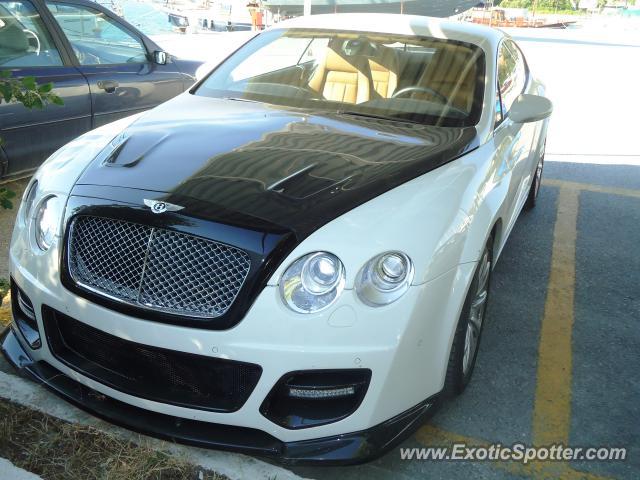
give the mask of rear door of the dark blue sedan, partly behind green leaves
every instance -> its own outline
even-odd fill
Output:
[[[5,165],[0,176],[33,170],[56,149],[91,128],[91,97],[84,76],[50,29],[37,0],[0,0],[0,71],[53,82],[63,106],[28,110],[0,104]],[[46,12],[44,12],[46,13]]]

